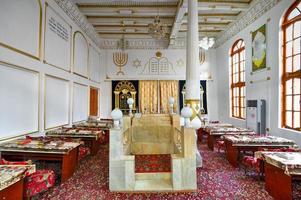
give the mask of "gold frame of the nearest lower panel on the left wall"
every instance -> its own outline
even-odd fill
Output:
[[[38,77],[38,127],[37,127],[38,130],[30,131],[30,132],[25,133],[25,134],[16,134],[16,135],[13,135],[13,136],[10,136],[10,137],[4,137],[4,138],[0,139],[0,142],[5,141],[5,140],[18,138],[18,137],[22,137],[22,136],[25,136],[25,135],[30,135],[30,134],[33,134],[33,133],[38,133],[40,131],[40,128],[41,128],[40,127],[40,123],[41,123],[41,119],[40,119],[41,118],[41,103],[40,103],[40,101],[41,101],[41,73],[39,71],[36,71],[36,70],[28,69],[28,68],[25,68],[23,66],[15,65],[15,64],[12,64],[12,63],[4,62],[4,61],[0,61],[0,64],[4,65],[6,67],[9,67],[9,68],[22,70],[22,71],[25,71],[25,72],[31,72],[31,73],[37,75],[37,77]]]

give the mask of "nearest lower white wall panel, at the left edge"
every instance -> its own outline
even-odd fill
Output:
[[[0,139],[38,131],[38,72],[0,63],[0,111]]]

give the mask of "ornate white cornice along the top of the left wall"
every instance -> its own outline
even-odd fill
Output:
[[[80,12],[72,0],[54,0],[61,9],[99,46],[100,38],[94,27],[87,18]]]

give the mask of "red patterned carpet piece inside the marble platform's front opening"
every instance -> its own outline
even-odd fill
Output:
[[[171,172],[170,154],[135,155],[135,172]]]

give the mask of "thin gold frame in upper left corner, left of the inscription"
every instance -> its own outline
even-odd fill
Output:
[[[41,49],[42,49],[42,16],[43,16],[43,9],[42,9],[42,2],[41,0],[37,0],[39,7],[40,7],[40,19],[39,19],[39,27],[38,27],[38,35],[39,35],[39,39],[38,39],[38,55],[32,55],[28,52],[25,52],[24,50],[18,49],[17,47],[13,47],[9,44],[5,44],[4,42],[0,42],[0,46],[7,48],[13,52],[28,56],[30,58],[36,59],[36,60],[40,60],[41,59]]]

